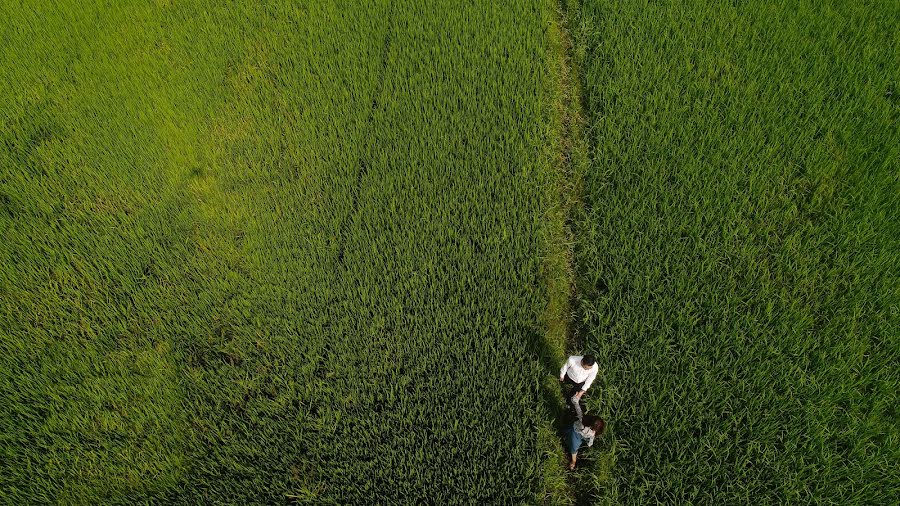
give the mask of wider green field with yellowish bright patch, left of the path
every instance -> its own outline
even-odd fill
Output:
[[[3,3],[0,502],[565,502],[554,8]]]

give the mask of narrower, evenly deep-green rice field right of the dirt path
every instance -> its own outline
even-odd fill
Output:
[[[580,4],[595,493],[895,503],[898,4]]]

